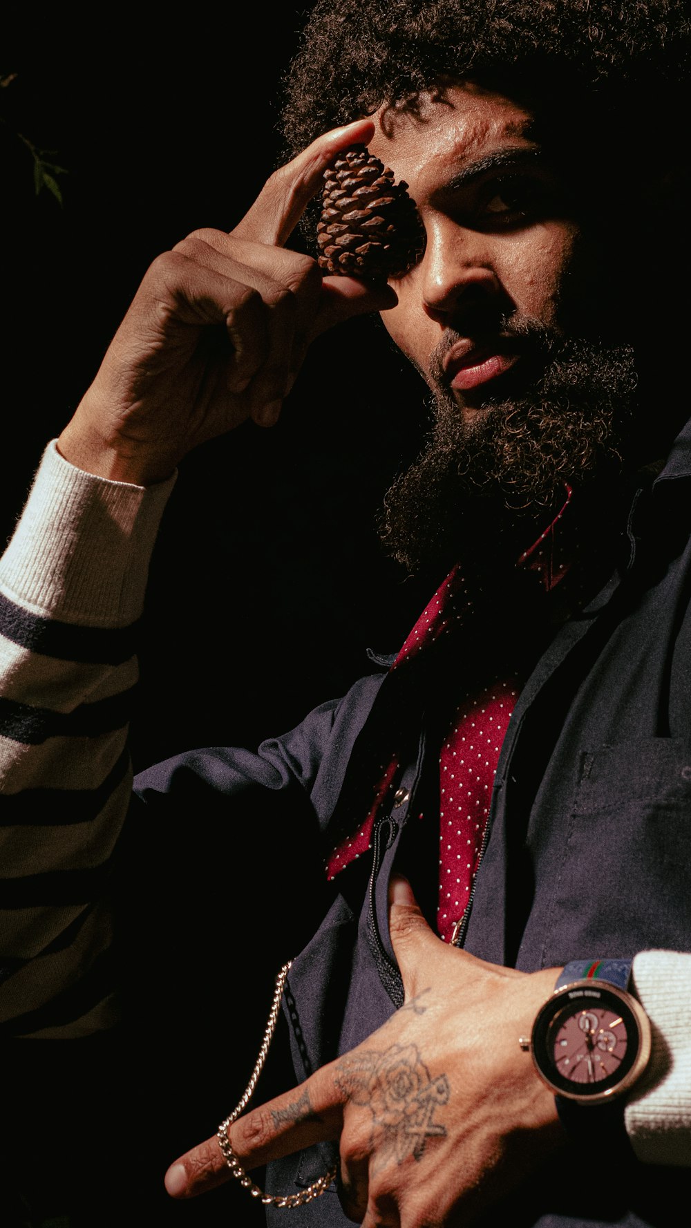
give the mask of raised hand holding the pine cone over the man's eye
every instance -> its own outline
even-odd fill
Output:
[[[315,260],[284,248],[324,168],[373,130],[363,119],[326,133],[270,177],[230,235],[195,231],[157,257],[60,436],[63,456],[123,481],[167,478],[245,419],[272,425],[319,333],[395,306],[389,287],[323,280]]]

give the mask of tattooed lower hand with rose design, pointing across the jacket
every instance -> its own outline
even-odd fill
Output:
[[[518,1046],[557,970],[517,973],[448,947],[405,879],[393,882],[389,923],[401,1009],[299,1088],[239,1117],[230,1141],[252,1169],[340,1138],[349,1218],[363,1228],[457,1228],[561,1142],[554,1097]],[[190,1197],[228,1176],[214,1137],[177,1160],[166,1185]]]

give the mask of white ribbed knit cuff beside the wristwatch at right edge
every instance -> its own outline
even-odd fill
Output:
[[[643,950],[632,991],[650,1019],[648,1073],[626,1105],[626,1130],[647,1164],[691,1167],[691,954]]]

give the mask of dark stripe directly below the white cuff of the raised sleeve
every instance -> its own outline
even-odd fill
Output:
[[[75,626],[31,614],[0,593],[0,635],[59,661],[120,666],[135,653],[139,623],[122,628]]]

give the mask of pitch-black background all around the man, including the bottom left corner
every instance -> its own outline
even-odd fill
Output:
[[[0,74],[16,77],[0,90],[1,540],[149,263],[199,226],[232,227],[277,165],[280,76],[302,14],[243,9],[242,36],[232,12],[196,16],[145,32],[120,10],[98,29],[27,14],[2,43]],[[61,205],[36,195],[18,134],[66,169]],[[417,451],[421,392],[380,322],[355,321],[315,344],[274,430],[249,424],[183,463],[142,628],[137,769],[193,745],[253,747],[372,668],[367,646],[401,642],[422,594],[383,558],[373,522]],[[171,833],[195,868],[201,823]],[[258,1050],[276,963],[269,949],[249,958],[237,923],[255,909],[254,871],[249,860],[245,895],[228,901],[236,921],[206,952],[210,975],[174,944],[162,959],[142,947],[153,981],[161,966],[177,974],[163,1025],[150,1005],[124,1045],[20,1043],[6,1057],[2,1228],[254,1222],[239,1187],[193,1208],[161,1185],[239,1098]],[[155,997],[146,963],[140,975]]]

